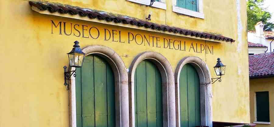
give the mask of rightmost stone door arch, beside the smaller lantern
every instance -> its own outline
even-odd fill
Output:
[[[181,69],[185,64],[191,64],[200,79],[200,104],[201,104],[201,125],[212,127],[212,88],[211,77],[206,63],[199,57],[188,56],[184,57],[178,63],[175,70],[175,93],[176,93],[176,127],[180,127],[180,95],[179,95],[179,78]]]

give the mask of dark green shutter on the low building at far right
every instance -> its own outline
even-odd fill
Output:
[[[256,92],[257,121],[269,121],[269,92]]]

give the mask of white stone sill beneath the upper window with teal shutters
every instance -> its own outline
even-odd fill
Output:
[[[173,12],[177,12],[177,13],[180,13],[180,14],[205,19],[204,13],[201,13],[201,12],[191,11],[191,10],[188,10],[188,9],[185,9],[185,8],[180,8],[180,7],[177,7],[177,6],[174,6],[174,5],[172,6],[172,10],[173,10]]]

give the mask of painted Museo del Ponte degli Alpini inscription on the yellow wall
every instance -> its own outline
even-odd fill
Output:
[[[72,24],[66,22],[54,22],[51,20],[51,34],[54,31],[58,31],[60,35],[75,36],[83,38],[98,39],[102,37],[104,41],[111,41],[115,43],[136,44],[143,46],[150,46],[156,48],[166,48],[170,50],[181,50],[195,53],[214,54],[213,46],[206,44],[191,43],[190,46],[186,46],[185,41],[174,40],[171,38],[162,38],[157,36],[134,34],[132,32],[122,33],[119,30],[113,29],[98,29],[95,26],[87,26],[80,24]],[[122,36],[122,34],[124,36]]]

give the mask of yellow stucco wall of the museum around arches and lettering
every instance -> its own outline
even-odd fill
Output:
[[[195,53],[189,50],[191,43],[205,44],[205,41],[186,37],[160,34],[114,25],[94,23],[72,18],[43,15],[32,11],[28,1],[0,1],[1,65],[0,74],[0,127],[68,127],[68,91],[65,90],[63,66],[68,66],[68,53],[74,41],[81,47],[92,44],[105,45],[115,50],[129,67],[133,58],[144,51],[155,51],[169,60],[173,70],[185,56],[197,56],[208,65],[211,77],[216,77],[213,66],[221,58],[227,65],[222,82],[213,86],[213,121],[250,122],[249,115],[249,80],[248,80],[248,45],[246,33],[246,5],[240,0],[240,22],[237,19],[237,3],[232,0],[214,2],[204,0],[205,19],[192,18],[172,12],[171,0],[166,0],[167,10],[148,8],[125,0],[48,0],[128,15],[139,19],[153,11],[152,22],[166,24],[195,31],[206,31],[231,37],[234,43],[206,42],[214,47],[213,54]],[[134,10],[134,11],[132,11]],[[136,13],[138,12],[138,13]],[[55,23],[87,25],[97,27],[104,34],[104,28],[121,31],[126,40],[127,32],[145,34],[163,38],[186,41],[187,51],[156,48],[137,45],[134,41],[114,43],[98,39],[66,36],[53,29]],[[239,23],[239,24],[238,24]],[[240,25],[240,28],[238,28]],[[241,30],[241,31],[238,31]],[[86,34],[88,36],[88,34]],[[238,36],[241,35],[241,36]],[[240,37],[240,38],[238,38]],[[139,38],[140,39],[140,38]],[[139,39],[137,39],[139,41]],[[163,46],[163,41],[160,41]]]

